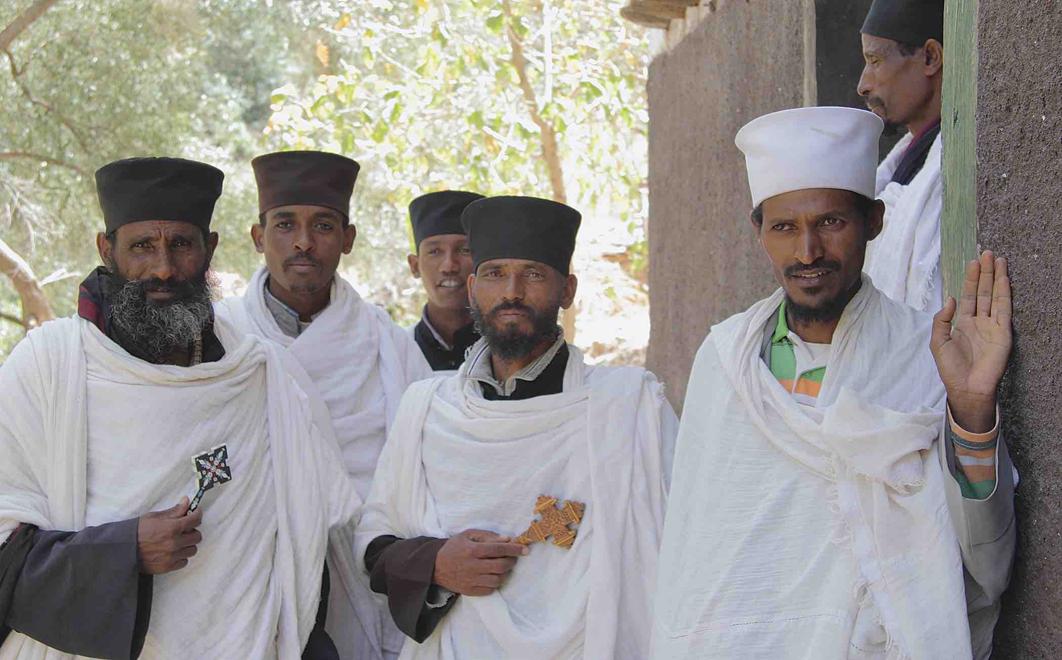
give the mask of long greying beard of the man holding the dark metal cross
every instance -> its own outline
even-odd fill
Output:
[[[159,364],[174,350],[192,345],[213,319],[207,267],[187,280],[158,278],[130,280],[109,267],[106,277],[110,298],[110,320],[122,348]],[[177,294],[171,302],[156,306],[148,292],[166,288]]]

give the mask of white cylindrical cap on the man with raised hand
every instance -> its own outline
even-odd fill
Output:
[[[744,154],[752,206],[808,188],[873,199],[884,127],[877,115],[847,107],[795,108],[752,120],[734,138]]]

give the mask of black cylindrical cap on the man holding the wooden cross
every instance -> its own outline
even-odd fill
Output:
[[[581,221],[570,206],[538,197],[484,197],[461,214],[477,271],[492,259],[527,259],[568,275]]]

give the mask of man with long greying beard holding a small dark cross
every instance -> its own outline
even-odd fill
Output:
[[[290,357],[213,317],[222,179],[101,168],[105,266],[0,367],[4,660],[288,659],[324,635],[328,531],[361,500]]]

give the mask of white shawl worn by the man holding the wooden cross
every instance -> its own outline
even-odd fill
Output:
[[[357,531],[360,568],[381,535],[516,536],[539,494],[583,502],[586,514],[570,550],[533,544],[500,589],[459,596],[423,644],[407,640],[401,658],[646,657],[668,404],[644,369],[586,367],[568,350],[561,394],[489,401],[461,377],[465,363],[459,377],[416,383],[402,398]]]

